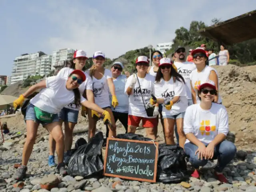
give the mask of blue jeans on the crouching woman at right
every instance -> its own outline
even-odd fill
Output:
[[[206,145],[207,146],[207,145]],[[198,153],[195,155],[198,146],[192,144],[191,142],[185,144],[185,153],[189,156],[189,161],[191,165],[198,169],[199,166],[204,166],[207,164],[208,160],[198,159]],[[215,167],[217,172],[222,172],[226,165],[234,158],[236,155],[236,146],[227,140],[222,141],[214,148],[214,156],[212,159],[218,159],[218,163]]]

